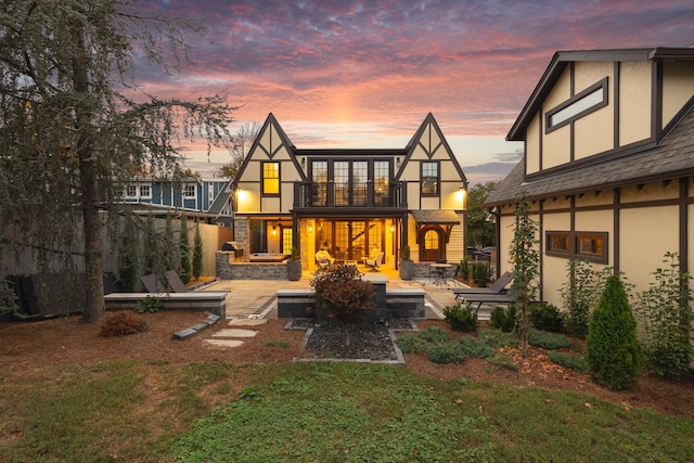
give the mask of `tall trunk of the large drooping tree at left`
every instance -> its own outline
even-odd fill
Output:
[[[89,74],[83,30],[75,27],[73,37],[80,51],[73,60],[73,85],[82,99],[75,105],[77,125],[77,155],[79,157],[80,197],[85,228],[85,314],[82,322],[99,323],[104,317],[104,281],[101,250],[101,222],[99,218],[99,167],[90,133]]]

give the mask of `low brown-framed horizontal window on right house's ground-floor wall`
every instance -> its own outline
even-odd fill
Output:
[[[607,263],[606,232],[548,231],[545,237],[548,256]]]

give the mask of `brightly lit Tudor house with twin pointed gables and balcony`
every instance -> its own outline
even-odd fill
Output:
[[[233,182],[234,240],[246,252],[316,253],[361,262],[383,252],[396,269],[460,261],[467,182],[432,114],[402,149],[297,149],[270,114]]]

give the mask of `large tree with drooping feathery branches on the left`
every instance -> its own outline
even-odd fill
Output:
[[[130,0],[0,9],[0,243],[52,272],[82,256],[85,322],[104,313],[100,211],[133,177],[180,177],[184,140],[202,138],[208,153],[229,140],[235,107],[223,94],[163,100],[137,87],[136,59],[163,73],[188,63],[187,31],[202,28]]]

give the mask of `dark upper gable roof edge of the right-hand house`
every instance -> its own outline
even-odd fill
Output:
[[[525,141],[526,129],[550,94],[564,69],[579,61],[694,61],[694,48],[647,48],[627,50],[557,51],[530,94],[518,118],[511,127],[506,141]]]

